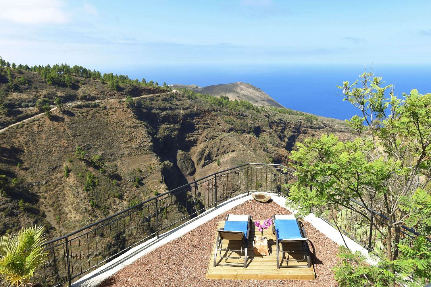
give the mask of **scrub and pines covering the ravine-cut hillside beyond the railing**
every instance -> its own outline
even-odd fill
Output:
[[[84,94],[106,100],[58,108],[3,131],[0,233],[42,223],[54,238],[217,170],[284,164],[304,137],[350,138],[338,120],[187,89],[172,93],[130,80],[117,91],[75,75],[77,86],[68,87],[47,83],[37,70],[3,67],[2,75],[8,71],[13,81],[21,75],[32,84],[15,91],[2,83],[3,103],[36,105],[48,93],[49,104]]]

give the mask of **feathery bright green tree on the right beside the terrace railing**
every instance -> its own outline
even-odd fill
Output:
[[[360,79],[359,86],[358,80],[338,86],[359,110],[347,121],[357,137],[341,142],[324,134],[298,143],[291,155],[298,181],[288,186],[288,205],[299,206],[301,216],[333,205],[369,222],[374,217],[375,232],[384,239],[383,250],[376,251],[381,260],[369,266],[359,254],[341,250],[335,268],[340,286],[420,285],[431,276],[430,244],[423,236],[406,244],[401,225],[430,234],[431,94],[412,89],[398,98],[381,77],[364,72]]]

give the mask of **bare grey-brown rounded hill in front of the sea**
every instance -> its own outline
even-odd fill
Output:
[[[228,96],[231,100],[246,100],[254,105],[274,106],[283,108],[278,102],[263,92],[258,87],[249,83],[236,82],[229,84],[212,85],[199,87],[196,85],[169,85],[172,89],[193,89],[197,93],[209,94],[211,96]]]

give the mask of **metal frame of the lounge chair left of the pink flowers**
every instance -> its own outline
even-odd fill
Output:
[[[229,215],[226,215],[226,220],[228,221],[228,217]],[[220,252],[219,257],[222,259],[241,259],[242,258],[242,254],[244,252],[244,268],[247,268],[247,247],[248,247],[248,238],[250,235],[250,228],[251,228],[251,222],[253,222],[253,216],[249,215],[248,216],[248,225],[247,225],[247,234],[244,234],[243,231],[228,231],[228,230],[224,230],[225,228],[220,228],[217,233],[217,240],[215,241],[215,250],[214,250],[214,267],[215,266],[234,266],[234,267],[239,267],[242,265],[242,263],[237,263],[237,264],[225,264],[225,263],[217,263],[217,253]],[[240,239],[240,237],[242,237]],[[239,241],[241,240],[241,249],[240,250],[236,250],[236,249],[229,249],[229,248],[223,248],[223,240],[235,240],[235,241]],[[238,257],[232,257],[232,256],[223,256],[222,255],[222,251],[225,251],[225,253],[228,253],[229,251],[234,252],[234,251],[238,251],[240,256]]]

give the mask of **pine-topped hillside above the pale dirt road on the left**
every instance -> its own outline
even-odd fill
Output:
[[[77,65],[29,67],[10,64],[0,57],[0,128],[46,112],[52,105],[136,97],[169,90],[166,83],[159,86],[152,80],[101,74]]]

